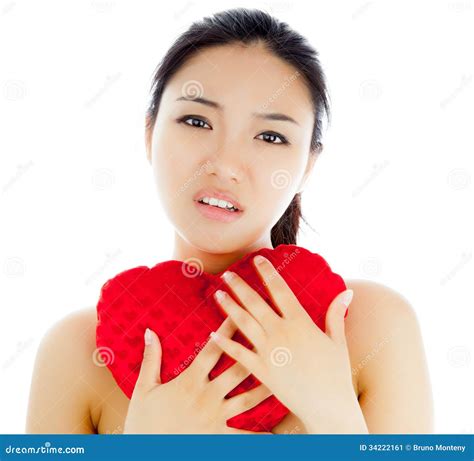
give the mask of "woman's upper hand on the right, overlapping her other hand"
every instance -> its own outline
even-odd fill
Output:
[[[326,334],[266,258],[254,260],[281,316],[238,274],[224,280],[240,306],[224,293],[216,300],[253,343],[250,350],[219,332],[211,337],[229,356],[265,384],[305,425],[308,432],[367,432],[352,387],[344,316],[352,290],[336,296],[326,314]],[[228,274],[228,272],[227,272]]]

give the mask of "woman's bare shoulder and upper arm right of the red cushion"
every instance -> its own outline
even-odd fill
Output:
[[[370,432],[432,432],[432,391],[414,307],[383,284],[345,283],[354,291],[345,320],[352,373]]]

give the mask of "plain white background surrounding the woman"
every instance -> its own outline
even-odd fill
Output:
[[[234,6],[288,22],[328,77],[333,124],[303,194],[316,232],[298,244],[409,300],[435,431],[472,433],[472,0],[2,1],[0,432],[24,432],[48,328],[119,271],[170,259],[143,139],[152,72],[192,21]]]

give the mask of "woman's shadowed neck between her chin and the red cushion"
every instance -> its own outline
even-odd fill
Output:
[[[260,250],[261,248],[273,249],[270,235],[266,235],[257,242],[247,247],[238,248],[235,251],[212,253],[190,244],[175,232],[172,259],[186,261],[193,258],[193,260],[197,260],[202,271],[208,272],[209,274],[218,274],[224,272],[232,263],[243,258],[246,254]]]

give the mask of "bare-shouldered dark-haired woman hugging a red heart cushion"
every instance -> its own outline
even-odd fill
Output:
[[[147,158],[175,227],[172,258],[197,258],[215,274],[259,248],[296,244],[324,116],[329,102],[317,53],[285,23],[236,9],[180,36],[155,73],[146,116]],[[282,317],[272,317],[242,279],[228,280],[243,306],[220,301],[229,315],[218,335],[166,384],[160,340],[147,332],[131,401],[92,360],[95,308],[59,321],[37,355],[27,432],[243,433],[226,420],[271,394],[290,409],[273,433],[432,432],[422,338],[403,296],[346,280],[322,333],[271,264],[258,267],[272,280]],[[237,328],[255,351],[230,340]],[[283,370],[269,366],[266,353],[282,344],[292,358]],[[210,382],[222,351],[237,362]],[[250,373],[262,385],[224,399]]]

